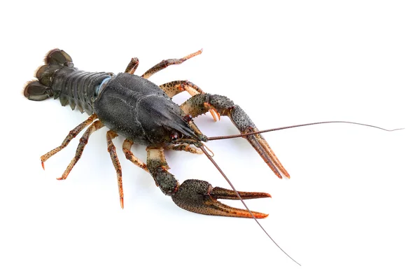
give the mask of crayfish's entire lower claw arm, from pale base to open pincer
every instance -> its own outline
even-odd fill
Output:
[[[174,175],[168,172],[169,166],[162,148],[147,148],[147,167],[155,179],[156,186],[162,193],[172,197],[178,207],[198,214],[252,218],[248,210],[230,207],[218,202],[223,200],[239,200],[237,193],[225,188],[213,188],[210,183],[201,180],[186,180],[181,185]],[[267,193],[238,192],[243,200],[271,197]],[[255,218],[268,215],[251,211]]]

